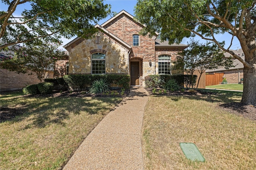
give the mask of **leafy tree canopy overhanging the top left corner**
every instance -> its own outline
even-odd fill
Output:
[[[83,37],[97,31],[94,23],[106,18],[110,5],[103,0],[1,0],[9,5],[0,12],[0,49],[34,41],[59,42],[60,37]],[[24,9],[31,7],[31,9]],[[24,9],[14,16],[18,8]]]

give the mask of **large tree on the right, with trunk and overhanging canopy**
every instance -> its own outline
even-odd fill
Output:
[[[160,32],[162,40],[180,43],[194,35],[214,41],[244,64],[242,103],[256,105],[256,0],[138,0],[135,17],[147,27],[142,34]],[[245,59],[218,43],[228,32],[240,41]]]

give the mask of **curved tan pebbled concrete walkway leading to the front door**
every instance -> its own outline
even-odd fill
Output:
[[[86,137],[64,170],[143,170],[141,131],[148,92],[132,87]]]

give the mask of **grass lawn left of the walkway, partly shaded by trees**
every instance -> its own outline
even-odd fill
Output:
[[[0,169],[60,169],[90,131],[122,100],[20,95],[0,95],[1,107],[24,111],[0,124]]]

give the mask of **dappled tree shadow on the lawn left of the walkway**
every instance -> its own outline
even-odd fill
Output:
[[[16,114],[14,110],[21,109],[16,107],[11,111],[13,116],[7,117],[6,120],[1,120],[1,123],[7,120],[10,121],[10,123],[15,123],[28,118],[28,122],[32,121],[32,123],[26,125],[25,129],[32,127],[43,128],[52,123],[58,123],[65,126],[64,120],[69,119],[71,114],[80,114],[82,112],[92,115],[99,114],[102,109],[102,107],[99,107],[100,104],[104,102],[108,104],[117,104],[120,102],[120,100],[116,100],[113,97],[23,96],[22,98],[31,98],[35,100],[30,102],[30,104],[25,104],[24,101],[18,103],[18,105],[22,107],[22,114]],[[106,109],[106,107],[104,109]],[[109,109],[111,109],[110,106]],[[1,115],[2,113],[3,112],[1,112]]]

